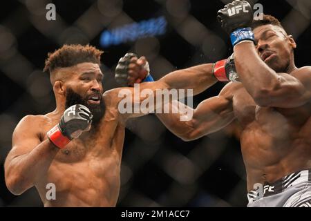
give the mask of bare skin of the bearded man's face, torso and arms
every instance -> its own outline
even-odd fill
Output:
[[[162,80],[143,83],[141,90],[169,88],[169,82],[179,77],[180,88],[197,86],[200,93],[216,79],[211,77],[211,64],[178,70]],[[57,75],[66,79],[57,81]],[[66,88],[82,97],[95,91],[102,93],[102,72],[98,64],[82,63],[62,68],[51,79],[57,108],[46,115],[28,115],[21,119],[12,137],[12,150],[5,162],[6,184],[15,195],[35,186],[44,206],[115,206],[120,191],[120,164],[126,119],[144,115],[120,114],[118,104],[123,88],[106,91],[103,99],[106,112],[96,128],[82,133],[60,150],[46,137],[59,123],[64,111]],[[185,81],[189,75],[196,75]],[[62,81],[66,81],[66,84]],[[175,80],[174,80],[175,81]],[[133,94],[133,88],[126,88]],[[141,98],[142,102],[145,97]],[[92,102],[89,100],[88,102]],[[47,184],[56,187],[56,199],[46,197]]]

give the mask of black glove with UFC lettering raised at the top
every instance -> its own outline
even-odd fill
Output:
[[[218,10],[217,19],[221,27],[231,34],[238,28],[250,27],[253,21],[253,10],[247,1],[233,1]]]

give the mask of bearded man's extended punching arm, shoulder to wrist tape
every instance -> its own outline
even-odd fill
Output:
[[[191,68],[176,70],[162,77],[162,79],[159,79],[158,81],[140,84],[139,89],[135,87],[116,88],[106,91],[104,96],[110,97],[109,100],[114,101],[113,103],[115,103],[110,105],[116,106],[117,108],[120,108],[120,101],[122,103],[122,100],[124,102],[124,99],[130,99],[133,108],[135,105],[140,106],[143,102],[149,103],[145,108],[139,108],[135,113],[134,111],[132,111],[132,113],[121,113],[122,117],[120,117],[120,119],[126,121],[129,117],[139,117],[146,115],[150,111],[154,111],[157,108],[157,102],[162,105],[164,100],[155,99],[157,90],[167,90],[167,92],[169,92],[172,89],[192,89],[193,95],[197,95],[206,90],[218,81],[213,75],[213,66],[214,64],[202,64]],[[141,95],[142,91],[147,91],[148,93],[142,97],[137,96]],[[179,96],[178,98],[180,99],[182,96]],[[167,102],[169,102],[169,100]],[[121,106],[123,106],[123,103]]]

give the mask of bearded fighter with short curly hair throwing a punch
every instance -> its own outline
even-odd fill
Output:
[[[56,108],[46,115],[27,115],[17,124],[4,165],[6,185],[13,194],[35,186],[44,206],[117,203],[126,120],[146,113],[120,113],[124,88],[103,94],[101,54],[93,46],[64,45],[48,55],[44,70],[50,73]],[[116,72],[121,77],[127,71],[138,76],[126,77],[128,85],[149,81],[142,61],[129,64],[126,55]],[[159,81],[140,84],[140,89],[156,93],[176,82],[179,88],[196,86],[194,93],[199,93],[207,82],[216,81],[211,70],[211,64],[176,70]],[[191,75],[196,77],[185,81]],[[134,96],[133,88],[125,90]]]

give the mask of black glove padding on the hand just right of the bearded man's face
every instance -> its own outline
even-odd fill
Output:
[[[126,53],[121,57],[115,68],[115,80],[122,86],[128,86],[129,64],[132,57],[138,57],[134,53]]]

